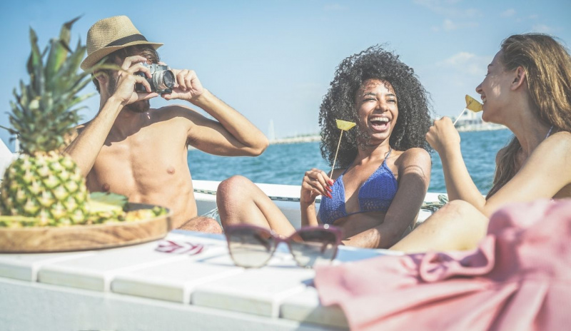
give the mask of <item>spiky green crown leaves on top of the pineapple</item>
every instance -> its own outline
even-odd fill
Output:
[[[91,72],[79,72],[86,46],[78,41],[70,49],[73,19],[61,26],[59,38],[51,39],[40,51],[36,31],[30,28],[31,54],[27,62],[30,83],[20,81],[20,94],[14,88],[16,102],[11,101],[9,114],[13,127],[9,131],[18,136],[21,150],[27,154],[54,151],[64,146],[64,139],[81,120],[78,103],[94,95],[79,95],[91,81]],[[47,58],[44,62],[44,58]]]

